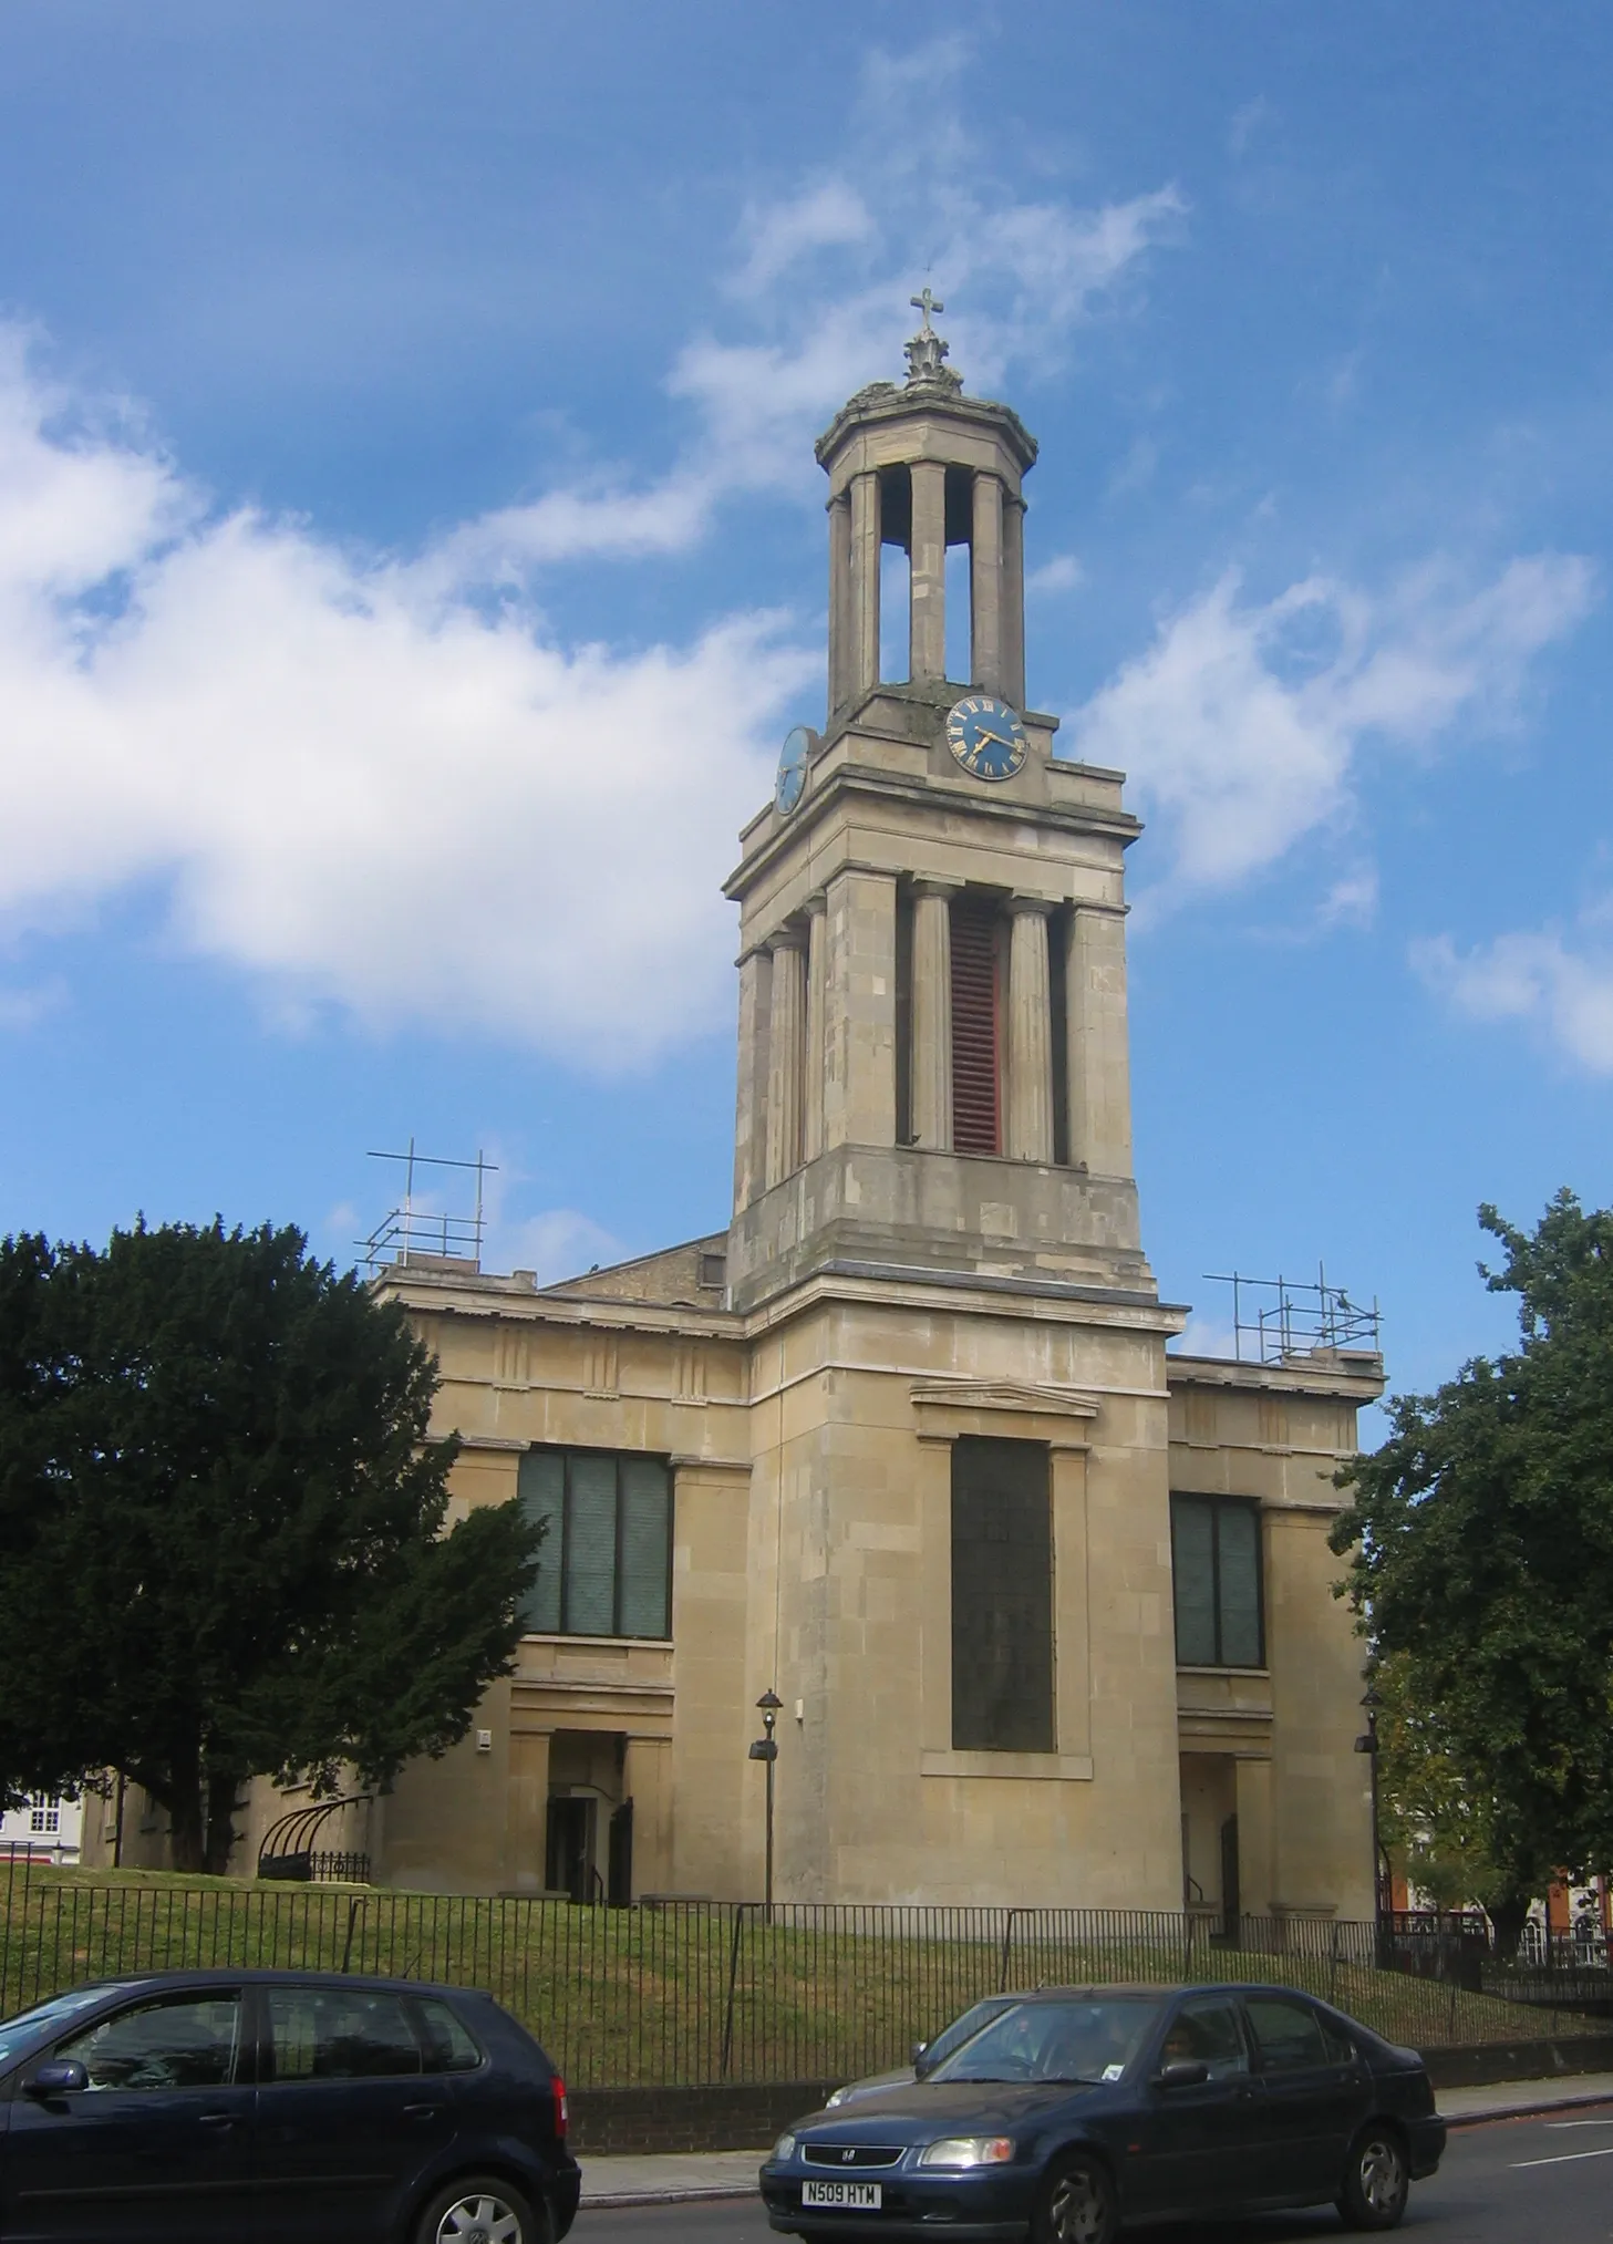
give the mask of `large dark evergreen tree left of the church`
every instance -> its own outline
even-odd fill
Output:
[[[0,1793],[121,1771],[222,1871],[254,1775],[386,1784],[507,1674],[538,1533],[444,1533],[402,1308],[296,1230],[0,1241]]]

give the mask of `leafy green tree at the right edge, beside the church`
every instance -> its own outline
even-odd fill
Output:
[[[1534,1232],[1478,1221],[1521,1346],[1391,1405],[1382,1450],[1339,1472],[1333,1548],[1469,1802],[1476,1898],[1512,1952],[1552,1876],[1613,1863],[1613,1212],[1559,1192]]]

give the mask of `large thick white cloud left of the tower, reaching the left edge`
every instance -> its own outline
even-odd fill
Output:
[[[722,1021],[718,884],[814,666],[774,619],[559,649],[437,557],[209,514],[58,406],[11,348],[0,925],[159,880],[175,940],[377,1026],[612,1066]]]

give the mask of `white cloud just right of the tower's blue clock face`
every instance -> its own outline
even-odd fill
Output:
[[[1348,821],[1368,743],[1508,723],[1530,660],[1593,599],[1575,554],[1512,561],[1478,592],[1427,568],[1382,597],[1315,577],[1263,606],[1227,574],[1075,716],[1075,752],[1131,774],[1164,846],[1155,909],[1232,889]]]

